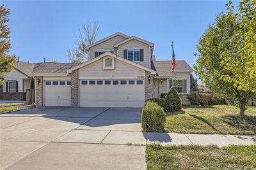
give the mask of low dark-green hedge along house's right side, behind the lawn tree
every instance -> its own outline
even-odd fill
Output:
[[[227,104],[225,99],[216,96],[214,93],[197,93],[191,92],[188,96],[191,103],[198,103],[204,105]]]

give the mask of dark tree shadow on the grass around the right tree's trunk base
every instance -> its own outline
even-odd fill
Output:
[[[236,128],[239,131],[253,131],[253,134],[256,134],[256,117],[226,115],[222,118],[223,122]]]

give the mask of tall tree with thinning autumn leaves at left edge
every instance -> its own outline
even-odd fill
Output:
[[[6,73],[13,71],[15,68],[15,55],[8,55],[10,52],[10,27],[8,27],[7,22],[9,21],[8,15],[10,15],[10,10],[4,8],[3,5],[0,6],[0,85],[4,84],[3,77]]]

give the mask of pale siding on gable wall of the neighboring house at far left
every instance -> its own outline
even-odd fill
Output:
[[[18,92],[23,92],[23,79],[28,80],[28,76],[25,76],[24,74],[20,73],[20,71],[17,71],[17,69],[14,69],[14,71],[7,73],[7,76],[4,77],[4,80],[15,80],[18,81]],[[6,92],[6,83],[3,85],[3,92]]]

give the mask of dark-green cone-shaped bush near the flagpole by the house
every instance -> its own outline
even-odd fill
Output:
[[[179,111],[182,108],[182,103],[178,92],[172,87],[166,96],[167,111]]]

